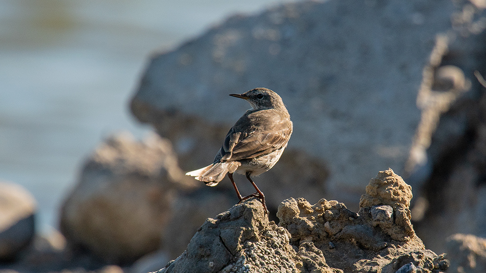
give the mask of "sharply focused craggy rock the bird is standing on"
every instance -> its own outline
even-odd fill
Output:
[[[408,209],[403,205],[411,197],[410,186],[390,169],[370,181],[361,199],[369,207],[359,213],[337,201],[321,199],[311,205],[303,198],[289,198],[278,207],[276,225],[252,198],[208,218],[182,255],[158,273],[446,270],[444,255],[425,249],[414,230],[408,231],[406,211],[398,212]],[[371,210],[390,211],[387,207],[397,208],[395,221],[384,228],[374,225]]]

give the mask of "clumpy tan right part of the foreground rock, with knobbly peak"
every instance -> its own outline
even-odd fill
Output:
[[[389,169],[370,180],[358,213],[337,201],[311,206],[288,199],[279,207],[279,225],[291,233],[291,244],[312,242],[330,267],[344,272],[396,272],[409,262],[424,272],[438,270],[441,256],[425,249],[410,223],[410,199],[410,186]],[[391,221],[373,216],[373,210],[390,208]]]

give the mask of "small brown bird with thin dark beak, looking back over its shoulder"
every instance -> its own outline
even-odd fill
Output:
[[[251,89],[243,94],[229,94],[243,98],[251,105],[226,134],[221,149],[211,165],[188,172],[206,185],[216,186],[227,174],[235,188],[238,204],[251,197],[258,197],[268,214],[265,195],[251,177],[270,170],[287,147],[293,130],[289,112],[277,93],[267,88]],[[242,197],[233,173],[243,174],[253,185],[256,193]]]

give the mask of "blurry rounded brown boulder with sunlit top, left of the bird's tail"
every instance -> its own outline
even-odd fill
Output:
[[[62,205],[61,231],[106,262],[133,262],[160,248],[177,191],[196,185],[187,178],[167,140],[110,137]]]

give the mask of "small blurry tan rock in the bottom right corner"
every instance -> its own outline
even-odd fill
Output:
[[[486,272],[486,239],[471,234],[454,234],[447,238],[451,272]]]

